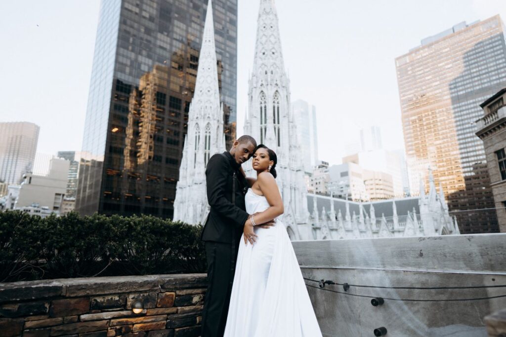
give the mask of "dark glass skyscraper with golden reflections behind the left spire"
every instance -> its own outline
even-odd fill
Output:
[[[80,214],[172,218],[207,0],[102,1],[76,196]],[[227,145],[237,0],[213,1]]]

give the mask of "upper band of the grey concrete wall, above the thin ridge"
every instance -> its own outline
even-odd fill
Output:
[[[506,233],[293,242],[301,266],[506,272]]]

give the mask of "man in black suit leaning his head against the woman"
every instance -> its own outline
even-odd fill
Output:
[[[241,164],[251,158],[256,147],[255,138],[243,135],[234,142],[230,152],[211,157],[205,168],[207,202],[211,209],[202,231],[208,287],[201,337],[223,336],[225,332],[239,242],[244,223],[250,217],[244,203],[249,185],[241,173]]]

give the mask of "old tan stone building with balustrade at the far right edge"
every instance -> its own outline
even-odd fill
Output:
[[[483,140],[499,230],[506,232],[506,88],[481,104],[485,116],[476,121]]]

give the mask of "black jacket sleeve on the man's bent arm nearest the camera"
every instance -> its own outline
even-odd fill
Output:
[[[221,155],[214,155],[209,159],[205,169],[207,201],[211,208],[231,224],[242,227],[249,214],[232,204],[225,196],[227,180],[230,179],[228,165],[227,159]]]

